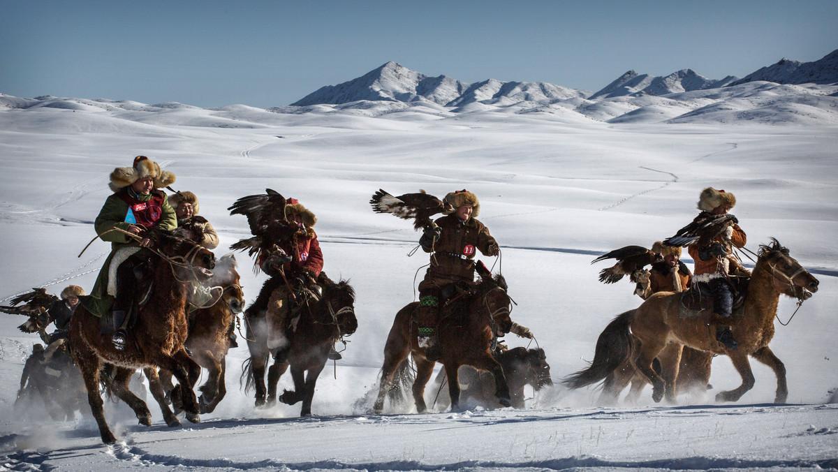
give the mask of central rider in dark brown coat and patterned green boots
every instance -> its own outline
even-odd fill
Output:
[[[500,253],[498,242],[489,229],[475,217],[480,214],[477,195],[458,190],[445,195],[445,216],[427,226],[419,239],[424,252],[431,253],[431,266],[419,284],[419,347],[425,349],[428,360],[438,360],[442,348],[437,336],[439,307],[451,298],[458,283],[474,280],[475,250],[489,257]]]

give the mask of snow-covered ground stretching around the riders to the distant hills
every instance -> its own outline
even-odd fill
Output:
[[[351,279],[360,328],[344,360],[318,382],[313,418],[298,406],[255,410],[238,387],[246,347],[228,358],[228,396],[202,423],[152,428],[112,404],[122,443],[101,445],[95,423],[24,421],[12,404],[23,360],[38,340],[0,318],[0,468],[137,469],[816,469],[838,467],[838,128],[556,122],[552,117],[473,112],[437,117],[392,112],[281,114],[246,106],[217,110],[85,101],[0,111],[0,303],[32,287],[90,289],[108,246],[92,220],[109,195],[107,175],[147,155],[199,195],[201,214],[229,246],[246,221],[225,208],[277,189],[318,215],[332,277]],[[129,106],[130,105],[130,106]],[[513,318],[546,350],[554,380],[586,366],[599,332],[639,304],[629,283],[597,283],[595,255],[650,246],[690,221],[712,185],[737,196],[748,247],[774,236],[820,279],[820,291],[772,349],[788,369],[789,404],[775,406],[773,373],[734,404],[715,392],[739,384],[726,358],[713,363],[709,395],[680,406],[595,406],[593,389],[539,392],[522,411],[370,413],[387,330],[415,296],[427,262],[408,223],[374,214],[379,188],[442,196],[469,189],[498,239],[493,263],[518,303]],[[216,251],[223,254],[224,251]],[[246,298],[264,276],[239,256]],[[422,277],[420,272],[418,277]],[[794,302],[780,301],[783,321]],[[527,345],[512,339],[510,345]],[[336,378],[335,378],[336,377]],[[289,386],[287,378],[282,384]],[[831,399],[830,399],[831,397]],[[152,405],[153,412],[156,406]]]

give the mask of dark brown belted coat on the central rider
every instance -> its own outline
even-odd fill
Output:
[[[432,255],[431,267],[427,268],[425,279],[419,284],[420,292],[442,288],[449,283],[472,282],[476,251],[488,255],[490,246],[498,246],[489,229],[474,218],[463,222],[452,214],[438,218],[436,223],[442,230],[436,244],[433,247],[422,245],[422,250],[432,252]],[[463,255],[465,259],[453,254]]]

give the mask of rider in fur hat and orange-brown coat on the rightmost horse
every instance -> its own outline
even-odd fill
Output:
[[[736,197],[724,190],[707,187],[701,191],[698,209],[701,213],[696,220],[706,219],[716,215],[726,215],[736,205]],[[700,242],[687,246],[687,251],[695,261],[694,284],[706,284],[713,293],[713,311],[723,319],[729,319],[733,309],[733,295],[729,274],[732,268],[738,267],[738,261],[733,257],[733,247],[743,247],[747,242],[745,231],[733,221],[728,222],[722,234],[716,236],[709,244]],[[738,344],[733,339],[730,325],[716,326],[716,340],[728,349],[737,349]]]

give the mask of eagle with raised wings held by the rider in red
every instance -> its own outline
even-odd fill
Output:
[[[227,210],[230,215],[245,215],[253,237],[241,239],[230,246],[234,251],[247,249],[249,256],[257,255],[254,270],[259,270],[260,255],[266,257],[278,248],[278,244],[294,236],[300,228],[288,222],[285,207],[287,200],[276,190],[265,189],[265,194],[248,195],[235,200]],[[305,231],[304,229],[302,231]]]

